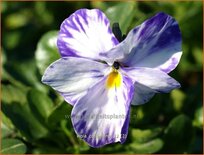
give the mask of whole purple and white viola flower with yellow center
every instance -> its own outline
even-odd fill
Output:
[[[180,84],[168,73],[178,65],[181,33],[174,18],[158,13],[121,43],[98,9],[80,9],[63,21],[57,40],[62,56],[42,82],[73,105],[75,132],[92,147],[124,143],[130,106]]]

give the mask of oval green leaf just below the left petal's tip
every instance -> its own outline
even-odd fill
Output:
[[[46,118],[49,116],[54,106],[52,100],[37,89],[31,89],[27,97],[33,114],[39,121],[45,123]]]

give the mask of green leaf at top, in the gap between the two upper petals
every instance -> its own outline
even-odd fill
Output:
[[[120,2],[115,6],[109,7],[105,14],[111,21],[111,25],[117,22],[122,32],[127,33],[128,27],[134,18],[135,6],[135,2]]]

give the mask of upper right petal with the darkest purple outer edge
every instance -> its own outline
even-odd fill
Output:
[[[169,73],[182,55],[181,32],[173,17],[158,13],[131,30],[119,47],[124,66],[157,68]]]

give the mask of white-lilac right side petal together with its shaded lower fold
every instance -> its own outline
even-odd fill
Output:
[[[133,105],[146,103],[155,93],[168,93],[180,88],[176,80],[159,69],[134,67],[123,68],[123,72],[135,82]]]

